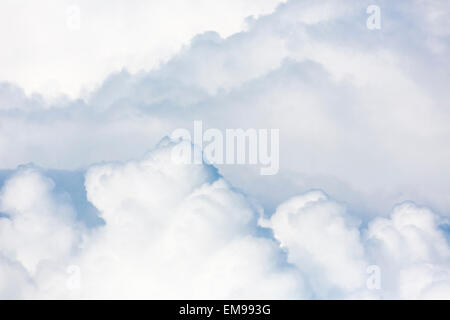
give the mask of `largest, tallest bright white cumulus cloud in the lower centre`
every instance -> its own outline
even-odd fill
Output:
[[[88,199],[106,225],[81,258],[84,294],[302,297],[301,277],[282,266],[276,242],[255,236],[246,197],[211,166],[172,164],[170,150],[87,172]]]

